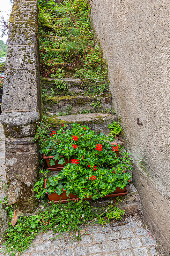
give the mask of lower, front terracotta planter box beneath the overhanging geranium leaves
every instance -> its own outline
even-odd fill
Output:
[[[129,180],[129,182],[130,182],[130,180]],[[44,187],[46,187],[46,184],[47,184],[47,180],[45,179],[44,180]],[[67,195],[66,195],[66,190],[63,189],[63,191],[64,191],[64,193],[61,194],[61,195],[58,195],[56,193],[51,193],[50,195],[47,194],[48,195],[48,199],[50,201],[54,201],[54,203],[59,203],[60,199],[61,199],[62,203],[68,202]],[[107,196],[103,196],[101,198],[124,196],[126,194],[127,194],[126,188],[121,189],[121,188],[117,187],[116,190],[113,192],[113,194],[108,194]],[[78,200],[78,201],[80,200],[80,198],[78,198],[76,195],[71,194],[71,193],[69,194],[68,197],[70,197],[70,200]],[[84,198],[84,200],[92,200],[92,198],[88,197],[88,198]]]

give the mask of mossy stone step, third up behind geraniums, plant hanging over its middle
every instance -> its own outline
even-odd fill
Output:
[[[75,92],[75,93],[81,93],[85,92],[85,87],[87,87],[89,84],[94,83],[93,80],[89,79],[83,79],[83,78],[42,78],[41,79],[41,86],[42,89],[55,89],[56,90],[56,84],[55,81],[60,82],[66,82],[67,86],[70,86],[68,89],[68,92]],[[61,89],[59,89],[61,90]]]

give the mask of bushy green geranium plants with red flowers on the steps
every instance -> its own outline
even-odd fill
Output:
[[[109,143],[111,137],[96,134],[87,126],[72,126],[70,130],[63,124],[60,130],[52,131],[44,138],[41,152],[54,156],[51,164],[55,160],[64,164],[64,158],[70,158],[71,163],[66,164],[58,175],[48,178],[45,188],[42,188],[43,178],[38,181],[34,188],[36,197],[46,193],[61,195],[65,189],[67,196],[72,193],[80,199],[91,197],[95,200],[111,194],[117,187],[125,188],[131,178],[127,172],[131,170],[130,153],[122,148],[117,157],[115,150],[120,150],[120,145],[112,146]]]

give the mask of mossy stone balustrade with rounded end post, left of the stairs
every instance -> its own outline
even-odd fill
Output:
[[[0,121],[5,133],[7,200],[19,214],[38,206],[33,193],[39,169],[33,138],[41,118],[37,20],[38,0],[14,0]]]

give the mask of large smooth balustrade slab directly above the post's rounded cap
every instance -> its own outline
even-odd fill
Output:
[[[10,60],[10,59],[9,59]],[[6,69],[2,112],[10,110],[38,111],[36,69]]]

